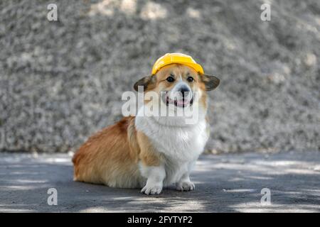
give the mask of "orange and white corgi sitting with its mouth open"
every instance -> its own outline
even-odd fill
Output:
[[[171,116],[142,114],[151,103],[146,100],[137,116],[124,117],[92,135],[73,156],[74,180],[140,188],[144,194],[160,194],[172,185],[178,191],[195,189],[189,175],[210,133],[207,92],[218,87],[220,80],[194,66],[169,61],[139,79],[134,89],[141,86],[144,93],[159,94],[156,104]],[[174,116],[178,109],[190,106],[198,109],[196,122],[186,123],[186,116]]]

